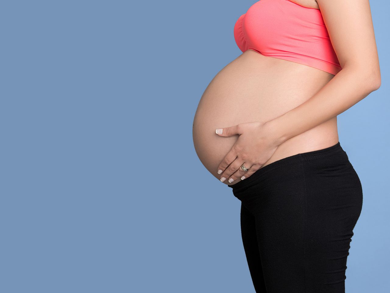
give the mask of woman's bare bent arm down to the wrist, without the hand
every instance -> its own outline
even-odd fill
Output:
[[[320,91],[268,127],[277,145],[346,111],[381,85],[369,0],[317,0],[339,71]]]

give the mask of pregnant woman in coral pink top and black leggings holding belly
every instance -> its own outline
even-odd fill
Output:
[[[234,38],[243,54],[207,86],[193,142],[241,201],[255,290],[344,292],[363,191],[337,115],[381,84],[369,0],[260,0]]]

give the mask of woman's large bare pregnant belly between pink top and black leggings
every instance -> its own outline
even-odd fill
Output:
[[[247,50],[218,72],[200,99],[193,120],[193,143],[200,161],[219,180],[217,168],[238,135],[221,137],[215,129],[272,120],[308,100],[333,76]],[[262,167],[291,155],[330,147],[338,141],[334,117],[286,140]],[[232,185],[239,180],[223,183]]]

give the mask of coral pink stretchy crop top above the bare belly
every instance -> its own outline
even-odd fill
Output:
[[[336,75],[341,70],[321,11],[290,0],[260,0],[234,25],[240,50],[305,64]]]

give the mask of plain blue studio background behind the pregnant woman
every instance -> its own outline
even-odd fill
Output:
[[[0,291],[254,292],[240,202],[200,163],[203,91],[256,1],[6,1]],[[338,117],[363,186],[347,292],[388,292],[389,18],[382,85]]]

